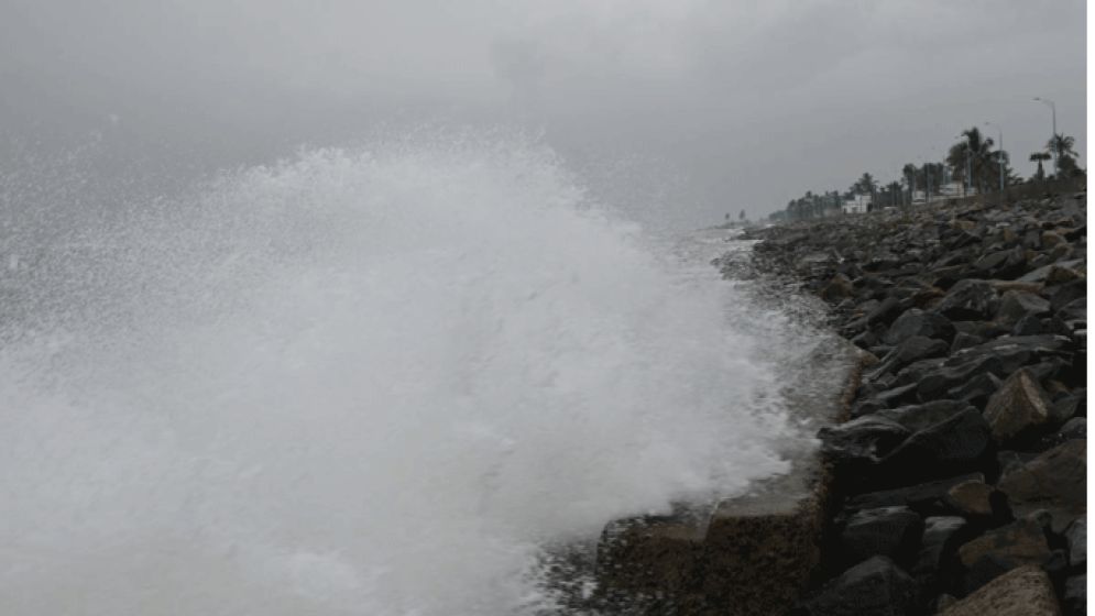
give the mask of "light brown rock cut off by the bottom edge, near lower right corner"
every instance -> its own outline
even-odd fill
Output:
[[[1053,584],[1037,566],[1020,566],[951,605],[941,616],[1060,616]]]

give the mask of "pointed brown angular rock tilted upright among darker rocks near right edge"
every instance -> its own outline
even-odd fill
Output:
[[[1051,416],[1052,403],[1029,370],[1015,372],[985,405],[993,439],[1005,444],[1029,439]]]

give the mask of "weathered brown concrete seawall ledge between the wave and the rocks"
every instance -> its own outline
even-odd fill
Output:
[[[844,419],[864,355],[825,340],[785,396],[808,429]],[[601,603],[628,614],[785,614],[821,561],[831,473],[815,448],[791,471],[707,507],[614,520],[596,553]]]

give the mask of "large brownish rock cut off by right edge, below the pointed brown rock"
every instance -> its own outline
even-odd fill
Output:
[[[1011,509],[1023,516],[1038,509],[1053,515],[1053,530],[1061,532],[1087,508],[1087,440],[1074,439],[1037,458],[1014,460],[996,486],[1007,494]]]

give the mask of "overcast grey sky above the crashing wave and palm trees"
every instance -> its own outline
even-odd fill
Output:
[[[896,179],[986,121],[1028,175],[1036,96],[1085,153],[1085,22],[1083,0],[0,0],[0,123],[217,143],[218,164],[376,122],[516,123],[592,184],[643,169],[699,226]]]

